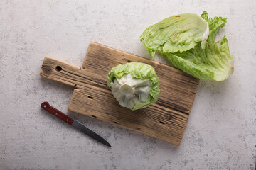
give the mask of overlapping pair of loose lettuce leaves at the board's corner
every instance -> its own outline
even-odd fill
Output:
[[[149,26],[141,35],[151,57],[155,52],[174,67],[198,79],[223,81],[233,74],[233,55],[230,55],[225,36],[215,42],[216,34],[225,26],[226,18],[208,18],[183,13]]]

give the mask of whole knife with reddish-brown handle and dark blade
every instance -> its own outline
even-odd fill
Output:
[[[74,128],[80,130],[89,137],[92,137],[92,139],[97,140],[97,142],[100,142],[104,145],[107,145],[108,147],[111,147],[110,143],[107,142],[107,140],[105,140],[103,137],[97,135],[97,133],[93,132],[89,128],[86,128],[85,125],[82,125],[82,123],[78,122],[78,120],[73,120],[68,115],[65,115],[64,113],[59,111],[57,108],[53,108],[53,106],[50,106],[50,104],[47,101],[41,103],[41,108],[55,115],[55,117],[60,118],[60,120],[63,120],[65,123],[68,123],[68,125],[72,125]]]

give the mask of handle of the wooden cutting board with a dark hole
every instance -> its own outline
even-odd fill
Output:
[[[55,60],[52,57],[45,57],[40,75],[69,86],[75,86],[82,79],[86,79],[82,72],[84,69],[81,67]]]

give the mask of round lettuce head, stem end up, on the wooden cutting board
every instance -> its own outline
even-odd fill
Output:
[[[154,68],[141,62],[117,65],[109,72],[107,80],[119,104],[133,111],[156,102],[160,93]]]

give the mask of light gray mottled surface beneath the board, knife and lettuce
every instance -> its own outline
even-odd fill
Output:
[[[139,35],[178,13],[224,16],[235,72],[201,81],[179,147],[67,111],[73,88],[39,76],[46,55],[81,66],[90,41],[149,57]],[[0,1],[0,169],[255,169],[256,1]],[[164,62],[159,57],[156,60]],[[100,145],[51,105],[105,137]]]

